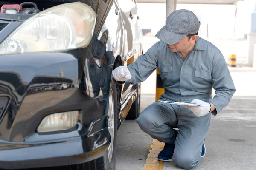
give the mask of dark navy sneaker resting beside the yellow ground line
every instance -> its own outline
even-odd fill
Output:
[[[174,144],[164,144],[163,150],[158,154],[158,160],[164,162],[172,161],[174,147]]]

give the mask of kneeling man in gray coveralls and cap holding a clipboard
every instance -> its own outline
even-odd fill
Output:
[[[191,11],[172,12],[156,34],[160,41],[132,65],[113,71],[117,81],[135,84],[158,67],[164,83],[160,100],[201,104],[185,107],[156,101],[136,119],[145,133],[165,142],[158,159],[175,161],[183,169],[195,167],[205,155],[211,114],[226,107],[236,91],[221,51],[197,35],[199,26]],[[213,99],[212,87],[216,90]]]

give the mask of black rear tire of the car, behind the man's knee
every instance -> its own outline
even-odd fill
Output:
[[[138,87],[137,87],[137,99],[131,105],[131,109],[128,112],[128,115],[126,116],[126,119],[135,120],[139,117],[139,114],[140,114],[140,83],[138,84]]]

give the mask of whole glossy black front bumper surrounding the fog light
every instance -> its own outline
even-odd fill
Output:
[[[108,93],[93,95],[88,53],[84,48],[0,57],[0,169],[80,164],[105,154],[111,142]],[[66,111],[79,111],[76,127],[37,132],[44,117]]]

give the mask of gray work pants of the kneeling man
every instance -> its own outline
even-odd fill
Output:
[[[191,102],[193,99],[209,102],[211,95],[184,97],[169,93],[160,96],[160,100],[175,102]],[[183,169],[191,169],[199,163],[210,119],[211,113],[197,117],[185,106],[156,101],[140,113],[136,122],[152,138],[160,142],[174,143],[172,160]],[[178,128],[178,133],[173,128]]]

